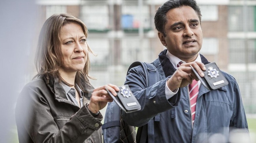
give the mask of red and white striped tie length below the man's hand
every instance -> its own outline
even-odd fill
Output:
[[[197,96],[199,92],[198,81],[193,80],[192,84],[189,84],[189,98],[191,105],[191,116],[192,116],[192,125],[194,124],[195,115],[196,115],[196,104],[197,104]]]

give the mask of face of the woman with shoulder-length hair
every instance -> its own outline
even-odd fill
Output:
[[[88,46],[82,27],[77,23],[62,26],[60,31],[61,51],[64,64],[60,72],[76,73],[84,68],[87,59]]]

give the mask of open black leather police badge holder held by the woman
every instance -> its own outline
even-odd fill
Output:
[[[117,105],[124,110],[126,113],[135,112],[141,109],[140,104],[136,97],[133,95],[130,87],[128,85],[124,85],[119,87],[119,91],[117,92],[117,96],[114,96],[108,89],[108,94],[113,98],[113,100],[117,103]]]

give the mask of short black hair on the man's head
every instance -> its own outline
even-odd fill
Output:
[[[202,14],[195,0],[169,0],[165,2],[162,6],[160,6],[156,12],[155,26],[157,31],[163,33],[163,35],[166,36],[166,33],[164,31],[164,26],[167,22],[166,13],[171,9],[180,8],[182,6],[189,6],[193,8],[196,11],[199,17],[199,21],[201,23]]]

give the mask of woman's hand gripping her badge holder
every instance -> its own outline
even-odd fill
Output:
[[[88,109],[92,113],[97,113],[99,110],[104,108],[108,102],[112,102],[113,99],[108,95],[108,92],[105,90],[107,88],[114,96],[117,96],[117,92],[119,88],[112,84],[107,84],[102,87],[95,88],[90,103],[88,105]]]

